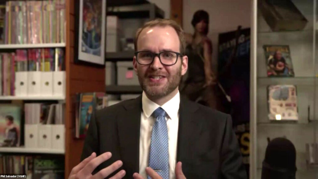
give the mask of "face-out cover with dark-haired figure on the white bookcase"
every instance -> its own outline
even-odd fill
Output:
[[[21,107],[0,105],[0,147],[20,146]]]

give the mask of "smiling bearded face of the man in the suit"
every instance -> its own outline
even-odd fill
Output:
[[[179,37],[170,26],[148,27],[142,30],[137,41],[138,51],[160,53],[163,51],[180,52]],[[174,65],[163,65],[158,57],[149,65],[141,65],[134,57],[133,64],[139,83],[148,97],[160,98],[169,95],[177,87],[188,68],[188,57],[178,56]]]

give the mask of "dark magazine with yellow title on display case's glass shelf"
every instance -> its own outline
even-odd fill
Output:
[[[294,68],[288,45],[264,45],[267,76],[294,77]]]

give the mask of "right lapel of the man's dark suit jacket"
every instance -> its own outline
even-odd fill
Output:
[[[179,107],[179,127],[177,140],[177,161],[189,161],[189,154],[196,139],[200,137],[202,124],[199,123],[195,111],[198,109],[197,105],[190,103],[185,98],[180,98]]]

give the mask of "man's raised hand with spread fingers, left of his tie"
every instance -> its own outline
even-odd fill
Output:
[[[98,167],[102,162],[107,161],[112,157],[110,152],[106,152],[96,157],[96,153],[92,153],[91,156],[87,157],[85,160],[76,165],[68,179],[78,179],[78,178],[89,178],[89,179],[102,179],[106,178],[108,175],[112,174],[115,170],[122,166],[122,161],[115,161],[113,164],[100,170],[95,175],[92,175],[93,170]],[[126,175],[125,170],[119,171],[116,175],[111,177],[111,179],[121,179]]]

